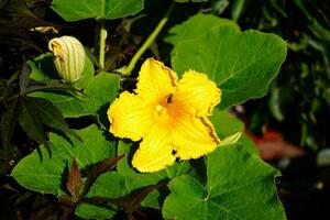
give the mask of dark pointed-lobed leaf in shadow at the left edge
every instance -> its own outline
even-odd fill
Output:
[[[54,105],[45,99],[28,97],[29,94],[36,90],[72,90],[70,85],[64,85],[56,80],[34,81],[30,78],[30,69],[24,63],[21,67],[20,75],[16,73],[11,76],[4,86],[1,96],[4,112],[1,117],[1,145],[4,154],[8,155],[11,141],[14,134],[16,123],[21,125],[28,138],[43,143],[50,151],[47,136],[44,125],[65,132],[79,139],[79,136],[69,129],[64,120],[62,112]],[[52,152],[50,151],[50,155]]]

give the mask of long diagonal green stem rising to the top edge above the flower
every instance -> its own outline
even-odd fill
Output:
[[[139,58],[142,56],[142,54],[147,50],[147,47],[155,41],[164,25],[166,24],[168,16],[174,9],[175,1],[172,2],[169,6],[166,14],[164,18],[160,21],[158,25],[155,28],[155,30],[151,33],[151,35],[146,38],[146,41],[143,43],[143,45],[139,48],[139,51],[134,54],[133,58],[131,59],[130,64],[128,67],[123,68],[121,72],[122,75],[124,76],[130,76],[131,72],[134,69],[136,62]]]

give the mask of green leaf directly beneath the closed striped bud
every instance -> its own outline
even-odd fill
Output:
[[[52,59],[52,56],[46,54],[30,61],[31,77],[35,80],[58,78]],[[81,78],[74,85],[76,88],[82,89],[81,95],[36,91],[29,96],[42,97],[52,101],[64,117],[77,118],[95,114],[101,107],[114,100],[120,87],[120,77],[105,72],[94,76],[94,66],[89,59],[86,61]]]

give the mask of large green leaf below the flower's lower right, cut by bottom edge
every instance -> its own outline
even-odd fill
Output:
[[[191,176],[169,183],[166,219],[286,219],[274,177],[278,172],[240,145],[207,156],[207,184]]]

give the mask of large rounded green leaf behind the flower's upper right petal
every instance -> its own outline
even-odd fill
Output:
[[[222,90],[220,109],[267,92],[286,57],[286,43],[274,34],[218,26],[206,35],[178,43],[172,53],[176,72],[207,74]]]

